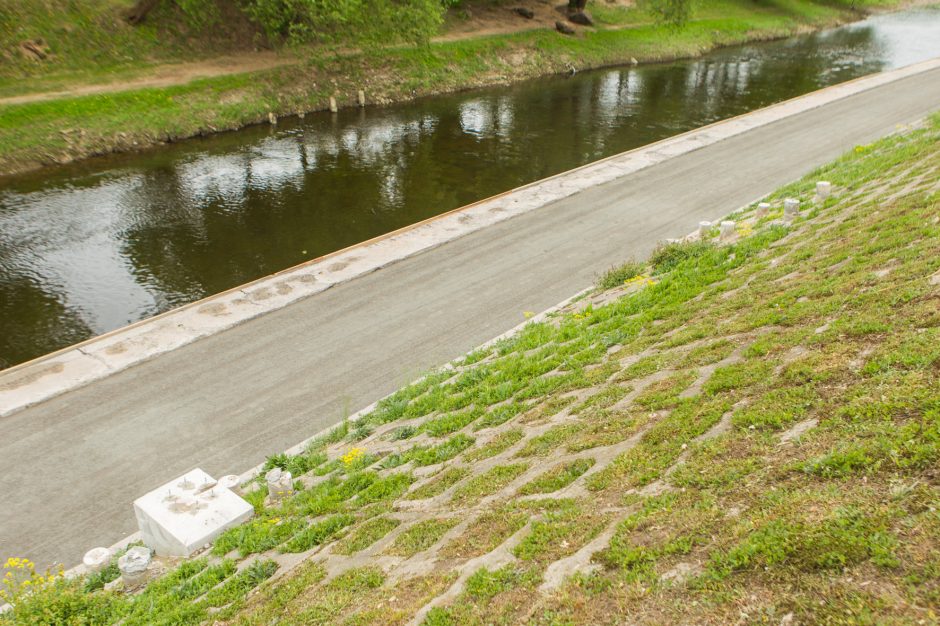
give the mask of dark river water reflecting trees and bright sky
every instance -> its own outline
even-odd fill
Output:
[[[940,10],[919,9],[0,180],[0,367],[602,157],[938,55]]]

